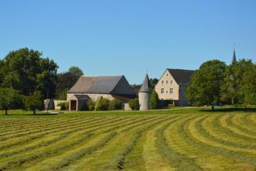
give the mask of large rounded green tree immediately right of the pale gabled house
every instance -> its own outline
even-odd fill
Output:
[[[214,106],[221,102],[221,84],[226,65],[220,60],[209,60],[202,63],[191,76],[190,85],[186,88],[186,98],[195,105]]]

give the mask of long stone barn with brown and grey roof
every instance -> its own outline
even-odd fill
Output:
[[[67,92],[70,111],[83,111],[89,99],[97,101],[101,97],[126,103],[137,95],[125,76],[81,76]]]

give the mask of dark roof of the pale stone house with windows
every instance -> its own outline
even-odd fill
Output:
[[[184,69],[167,69],[179,85],[187,85],[190,82],[190,77],[194,73],[194,70]]]

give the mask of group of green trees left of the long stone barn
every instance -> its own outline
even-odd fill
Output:
[[[11,51],[0,59],[0,109],[44,109],[43,99],[66,99],[66,92],[83,72],[72,66],[57,73],[54,60],[29,48]]]

